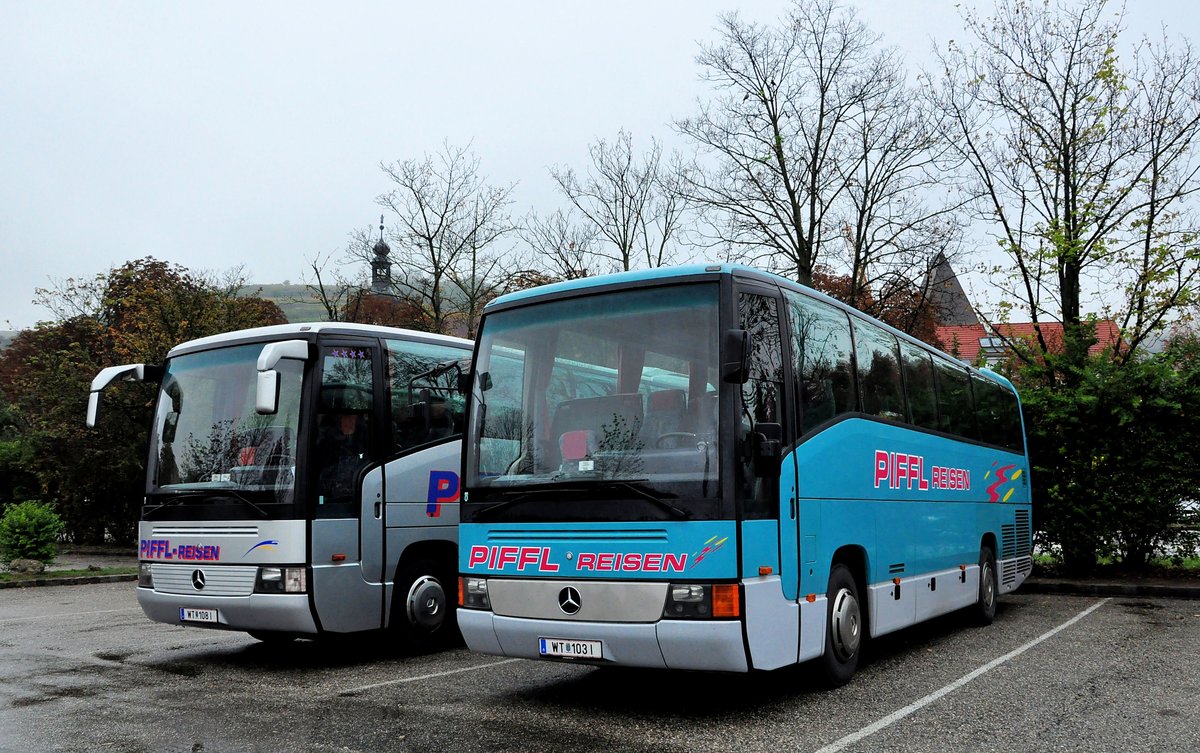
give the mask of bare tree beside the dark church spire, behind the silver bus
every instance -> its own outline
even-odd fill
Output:
[[[396,221],[390,240],[397,295],[419,301],[438,332],[458,317],[470,320],[478,314],[472,301],[480,300],[479,276],[494,271],[493,246],[512,230],[512,186],[487,183],[479,158],[450,144],[437,155],[380,167],[395,185],[378,201]],[[358,251],[358,260],[370,261],[370,251]],[[455,288],[469,291],[466,303],[454,299]]]

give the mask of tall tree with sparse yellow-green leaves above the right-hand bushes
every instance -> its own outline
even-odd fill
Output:
[[[1187,44],[1144,41],[1122,68],[1123,11],[1106,0],[998,0],[994,17],[964,18],[974,46],[943,55],[940,104],[1012,261],[992,275],[1007,281],[1003,306],[1086,343],[1094,284],[1108,297],[1092,311],[1120,308],[1129,357],[1196,293],[1198,60]]]

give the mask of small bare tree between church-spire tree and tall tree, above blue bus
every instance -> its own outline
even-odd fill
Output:
[[[552,168],[551,177],[571,205],[611,243],[596,254],[619,270],[656,267],[674,260],[680,225],[689,210],[670,174],[662,173],[662,145],[650,139],[637,157],[634,140],[622,129],[612,141],[588,147],[592,165],[583,175]]]

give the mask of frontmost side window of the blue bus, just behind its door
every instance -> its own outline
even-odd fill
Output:
[[[800,435],[857,410],[851,367],[850,319],[836,308],[785,290],[791,313],[792,357]]]

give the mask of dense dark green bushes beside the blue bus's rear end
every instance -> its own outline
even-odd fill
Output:
[[[1098,554],[1144,567],[1188,546],[1184,502],[1200,499],[1200,360],[1180,345],[1126,363],[1111,353],[1051,355],[1022,391],[1034,516],[1064,565]],[[1037,371],[1074,373],[1048,386]]]

